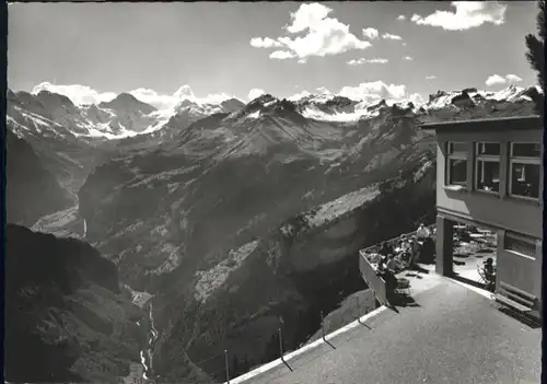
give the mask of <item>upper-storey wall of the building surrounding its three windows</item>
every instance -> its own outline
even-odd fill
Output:
[[[536,238],[543,237],[543,199],[529,201],[508,196],[507,178],[509,153],[507,148],[510,141],[539,141],[543,140],[539,130],[521,131],[467,131],[467,132],[438,132],[437,158],[437,207],[438,211],[470,219],[488,226],[508,229]],[[454,191],[444,188],[447,141],[466,141],[468,146],[468,186],[467,191]],[[500,195],[493,195],[474,189],[474,142],[496,141],[502,143]],[[505,143],[505,144],[503,144]],[[542,164],[543,165],[543,164]],[[543,171],[542,173],[543,174]]]

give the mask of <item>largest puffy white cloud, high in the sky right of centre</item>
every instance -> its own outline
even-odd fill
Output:
[[[327,18],[333,10],[319,3],[301,4],[291,13],[291,24],[284,30],[289,34],[304,32],[304,36],[255,37],[251,45],[257,48],[282,48],[270,55],[271,59],[298,58],[300,60],[312,56],[325,57],[346,53],[352,49],[366,49],[369,42],[359,39],[349,32],[349,25],[337,19]]]

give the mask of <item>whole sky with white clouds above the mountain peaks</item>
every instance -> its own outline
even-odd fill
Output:
[[[534,1],[14,3],[8,84],[74,103],[534,85]]]

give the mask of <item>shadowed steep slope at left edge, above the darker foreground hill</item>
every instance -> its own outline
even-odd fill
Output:
[[[5,149],[9,223],[31,226],[40,217],[74,203],[70,194],[44,167],[30,143],[7,130]]]

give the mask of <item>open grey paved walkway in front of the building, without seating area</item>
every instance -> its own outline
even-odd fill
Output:
[[[442,279],[418,306],[385,310],[360,326],[245,381],[249,384],[540,382],[542,330],[489,299]],[[370,328],[369,328],[370,327]],[[334,349],[336,348],[336,349]]]

